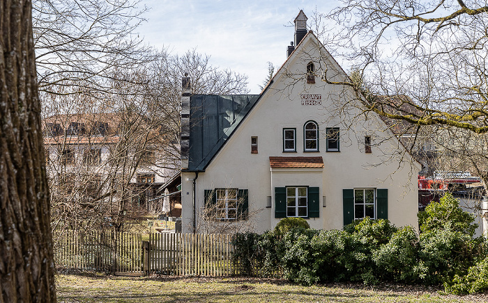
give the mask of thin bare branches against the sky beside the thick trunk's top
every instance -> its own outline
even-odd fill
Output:
[[[33,1],[40,91],[111,92],[109,80],[117,69],[153,60],[135,33],[145,11],[138,0]],[[65,90],[66,85],[77,90]]]

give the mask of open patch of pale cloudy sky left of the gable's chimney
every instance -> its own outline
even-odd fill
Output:
[[[139,35],[158,49],[183,54],[197,48],[211,64],[246,74],[250,93],[259,94],[268,61],[280,67],[293,41],[293,19],[328,12],[336,1],[142,0],[151,8]],[[310,22],[309,22],[310,26]],[[276,69],[277,69],[276,68]]]

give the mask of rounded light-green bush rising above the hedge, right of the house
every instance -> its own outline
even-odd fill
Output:
[[[471,213],[459,208],[459,201],[446,193],[439,202],[431,202],[425,211],[418,213],[420,231],[459,231],[473,237],[478,224]]]

